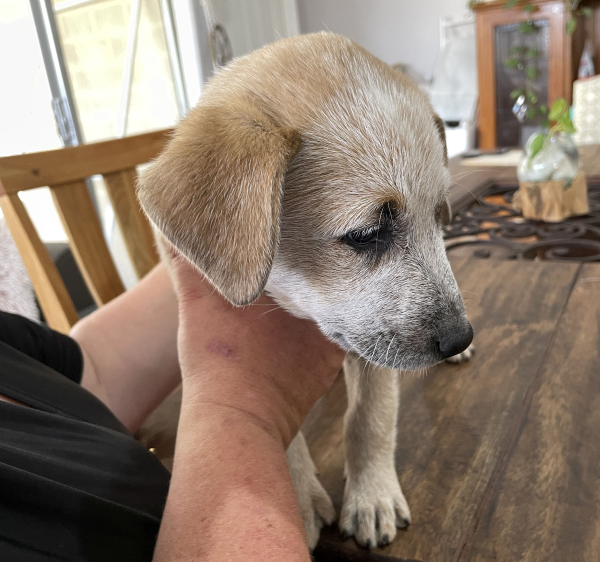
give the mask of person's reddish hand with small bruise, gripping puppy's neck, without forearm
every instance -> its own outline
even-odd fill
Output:
[[[333,384],[344,352],[266,296],[235,307],[185,258],[174,256],[171,266],[184,392],[207,407],[246,412],[287,447]]]

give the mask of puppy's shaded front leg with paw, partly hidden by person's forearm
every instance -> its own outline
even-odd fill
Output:
[[[319,542],[323,524],[331,525],[335,521],[335,508],[317,478],[317,468],[301,431],[290,443],[287,459],[292,484],[298,497],[300,514],[304,522],[306,542],[308,549],[312,551]]]

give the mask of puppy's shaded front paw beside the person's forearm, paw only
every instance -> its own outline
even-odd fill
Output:
[[[335,521],[335,508],[314,472],[304,473],[295,480],[294,488],[304,522],[306,542],[308,549],[312,551],[319,542],[323,525],[331,525]]]

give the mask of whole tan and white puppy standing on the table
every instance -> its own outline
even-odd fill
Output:
[[[425,95],[321,33],[221,70],[139,186],[157,229],[225,298],[266,290],[348,351],[339,524],[367,547],[410,522],[394,464],[396,369],[472,339],[442,240],[449,184]],[[301,434],[288,461],[313,548],[333,505]]]

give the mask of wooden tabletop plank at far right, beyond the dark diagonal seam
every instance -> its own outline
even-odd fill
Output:
[[[600,560],[600,264],[583,265],[461,561]]]

